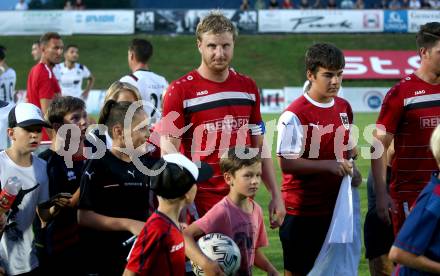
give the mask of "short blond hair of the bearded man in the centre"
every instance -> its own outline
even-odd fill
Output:
[[[209,32],[213,34],[230,32],[234,41],[238,35],[237,28],[232,21],[218,10],[211,11],[207,16],[200,20],[199,24],[197,24],[197,40],[202,41],[202,35]]]

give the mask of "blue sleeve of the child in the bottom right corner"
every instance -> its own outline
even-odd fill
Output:
[[[394,246],[418,256],[423,255],[431,245],[432,238],[437,234],[439,208],[439,196],[432,195],[429,199],[419,198],[397,235]]]

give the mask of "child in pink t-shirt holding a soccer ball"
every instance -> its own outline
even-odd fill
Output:
[[[185,254],[207,275],[223,275],[219,264],[205,256],[195,241],[208,233],[225,234],[238,245],[241,264],[237,275],[252,275],[253,265],[268,275],[278,275],[261,250],[268,239],[261,207],[252,200],[261,182],[261,159],[244,156],[249,152],[249,148],[231,148],[222,156],[220,168],[230,186],[229,194],[183,231]]]

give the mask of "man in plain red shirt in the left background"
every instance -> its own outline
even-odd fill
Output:
[[[29,72],[27,81],[27,100],[38,106],[46,114],[52,99],[61,93],[58,81],[52,72],[55,64],[61,62],[63,41],[58,33],[45,33],[40,38],[41,59]],[[49,141],[43,131],[43,141]]]

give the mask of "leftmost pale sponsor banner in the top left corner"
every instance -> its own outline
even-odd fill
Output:
[[[71,35],[73,14],[65,11],[0,11],[0,35]]]

